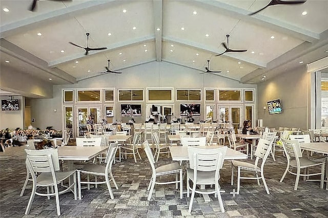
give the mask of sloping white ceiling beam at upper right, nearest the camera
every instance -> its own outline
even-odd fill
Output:
[[[228,5],[219,1],[202,1],[202,0],[193,0],[194,2],[199,3],[201,6],[208,6],[211,10],[217,10],[218,12],[230,16],[235,17],[249,23],[261,26],[263,28],[267,28],[270,30],[274,30],[286,35],[290,35],[304,41],[314,42],[318,40],[320,34],[293,26],[291,24],[284,23],[280,20],[273,19],[261,14],[256,14],[250,16],[248,14],[252,13],[252,11],[245,10],[242,8],[237,8],[232,5]]]

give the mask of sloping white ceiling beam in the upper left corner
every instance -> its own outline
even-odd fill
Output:
[[[118,0],[106,1],[87,1],[81,4],[76,4],[68,8],[59,9],[45,14],[40,14],[27,19],[19,20],[17,22],[7,24],[1,27],[0,36],[5,38],[14,34],[22,33],[38,27],[40,24],[47,24],[53,20],[65,20],[67,17],[73,17],[84,13],[86,10],[97,10],[103,8],[104,5],[117,4]]]

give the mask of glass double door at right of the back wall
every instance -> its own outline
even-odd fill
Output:
[[[219,105],[219,122],[230,123],[237,133],[237,129],[241,126],[242,105]]]

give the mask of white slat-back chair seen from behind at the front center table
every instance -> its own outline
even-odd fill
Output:
[[[188,147],[190,167],[187,168],[187,197],[191,193],[188,212],[191,212],[195,193],[216,194],[221,212],[224,213],[223,201],[220,194],[220,169],[223,166],[224,156],[228,147],[223,146],[214,149]],[[190,187],[192,182],[192,187]],[[214,185],[213,189],[199,189],[197,185]]]

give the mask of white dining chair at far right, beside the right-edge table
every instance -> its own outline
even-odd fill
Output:
[[[300,143],[298,140],[287,140],[281,139],[282,146],[286,154],[287,158],[287,166],[286,169],[280,179],[280,182],[283,181],[287,172],[296,176],[294,190],[296,191],[298,188],[299,178],[300,177],[310,177],[320,175],[320,188],[323,188],[323,179],[324,179],[324,167],[325,161],[315,162],[310,160],[308,157],[303,157]],[[306,168],[315,168],[317,166],[321,166],[320,172],[310,173]],[[301,173],[301,170],[304,169],[304,173]],[[296,170],[296,171],[295,171]]]

